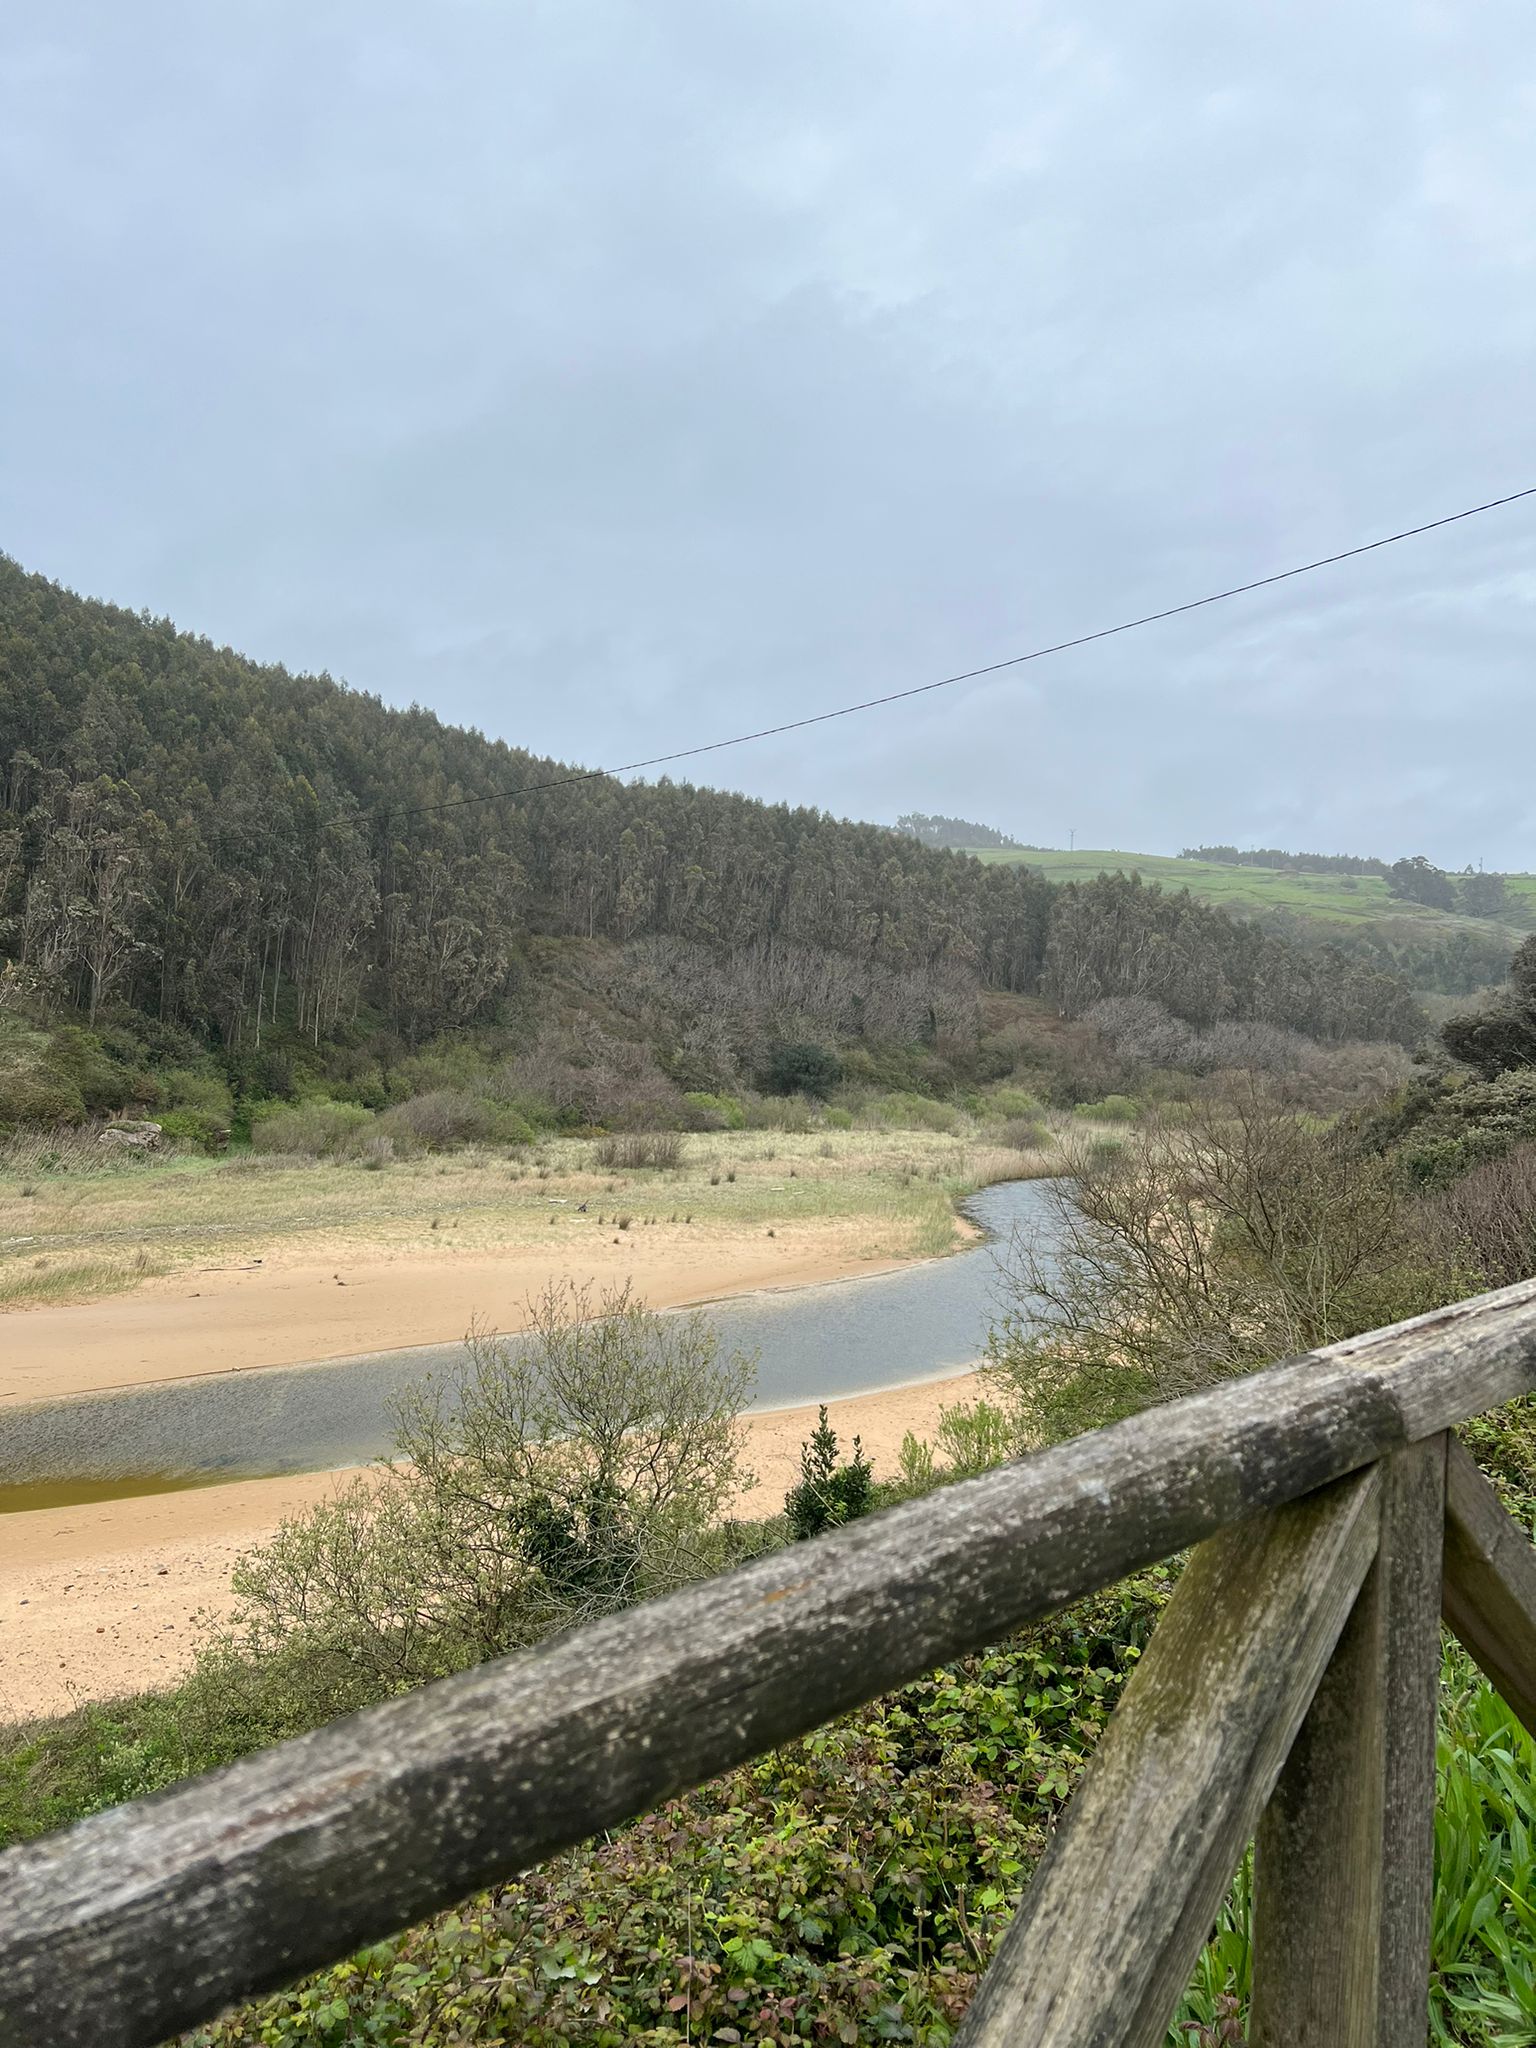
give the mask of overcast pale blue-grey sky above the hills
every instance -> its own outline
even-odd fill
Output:
[[[625,762],[1536,483],[1528,0],[49,0],[0,547]],[[1536,868],[1536,500],[698,778]]]

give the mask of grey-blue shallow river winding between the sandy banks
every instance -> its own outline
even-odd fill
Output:
[[[758,1407],[958,1372],[985,1350],[997,1251],[1014,1231],[1038,1243],[1053,1229],[1049,1200],[1049,1182],[1001,1182],[965,1202],[989,1233],[971,1251],[862,1280],[725,1296],[705,1313],[727,1348],[758,1354]],[[461,1354],[461,1343],[426,1343],[6,1409],[0,1511],[41,1487],[51,1497],[27,1505],[362,1464],[391,1448],[393,1397]]]

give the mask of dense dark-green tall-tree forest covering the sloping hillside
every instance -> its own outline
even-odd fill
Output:
[[[1069,1016],[1135,993],[1194,1024],[1421,1030],[1393,977],[1188,895],[1057,889],[903,831],[670,780],[561,782],[573,770],[557,762],[86,602],[4,557],[0,766],[12,1016],[152,1018],[229,1055],[272,1030],[420,1044],[496,1024],[526,997],[539,942],[580,938],[645,940],[653,973],[657,944],[694,977],[748,963],[743,1001],[748,983],[788,971],[809,987],[807,963],[836,958],[827,1036],[866,1034],[895,985],[891,1030],[918,1036],[952,1012],[944,991],[977,985],[1044,993]],[[463,801],[498,791],[512,795]],[[711,981],[717,1006],[731,987]]]

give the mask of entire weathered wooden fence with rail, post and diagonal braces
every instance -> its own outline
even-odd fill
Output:
[[[154,2044],[1198,1546],[965,2021],[1157,2048],[1257,1837],[1251,2040],[1425,2040],[1440,1616],[1536,1726],[1450,1436],[1536,1282],[1098,1430],[0,1858],[0,2044]]]

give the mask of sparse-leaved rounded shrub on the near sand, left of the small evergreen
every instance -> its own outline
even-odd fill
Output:
[[[629,1288],[530,1307],[401,1397],[401,1462],[240,1561],[211,1667],[340,1710],[715,1569],[752,1360]]]

